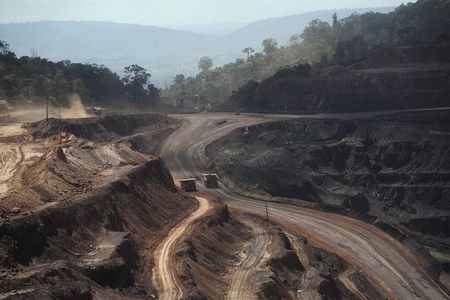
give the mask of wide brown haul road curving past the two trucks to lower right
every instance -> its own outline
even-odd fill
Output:
[[[210,163],[204,155],[206,145],[233,129],[290,116],[197,114],[175,117],[184,125],[166,140],[163,158],[175,178],[196,177],[200,180],[200,175]],[[233,208],[264,214],[264,204],[255,199],[257,195],[249,198],[227,187],[205,192]],[[374,226],[337,214],[283,204],[271,204],[270,214],[276,221],[290,226],[324,250],[337,253],[364,271],[382,287],[389,299],[448,299],[406,247]]]

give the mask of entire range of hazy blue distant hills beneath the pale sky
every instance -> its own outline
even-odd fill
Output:
[[[39,56],[50,60],[104,64],[121,73],[125,66],[139,64],[148,68],[152,82],[163,87],[176,74],[194,75],[202,56],[211,56],[215,65],[243,57],[241,50],[253,47],[259,51],[261,41],[268,37],[286,44],[289,37],[300,33],[313,19],[331,20],[367,11],[388,12],[393,8],[363,8],[326,10],[266,19],[250,23],[231,33],[231,27],[210,27],[210,34],[199,26],[184,26],[185,30],[156,26],[112,22],[42,21],[0,24],[0,39],[11,45],[17,55]],[[230,25],[230,24],[229,24]],[[235,24],[236,25],[236,24]],[[206,26],[206,25],[205,25]],[[231,25],[230,25],[231,26]],[[179,27],[183,28],[183,27]],[[196,29],[197,28],[197,29]],[[214,32],[216,33],[214,35]]]

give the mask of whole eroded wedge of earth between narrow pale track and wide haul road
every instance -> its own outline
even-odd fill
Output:
[[[358,293],[381,297],[361,271],[306,238],[211,204],[174,253],[172,272],[184,299],[357,299]],[[353,277],[347,284],[341,278],[349,274]]]

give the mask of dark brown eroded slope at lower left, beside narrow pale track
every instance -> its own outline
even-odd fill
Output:
[[[88,195],[3,220],[1,296],[148,297],[155,246],[193,209],[156,159]]]

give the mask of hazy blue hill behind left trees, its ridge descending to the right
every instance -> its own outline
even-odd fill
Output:
[[[200,57],[226,63],[240,55],[217,37],[156,26],[109,22],[44,21],[1,24],[0,39],[17,55],[104,64],[116,72],[131,64],[150,69],[162,86],[178,73],[195,74]]]

